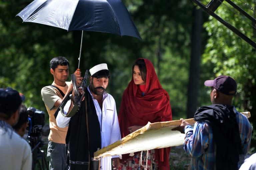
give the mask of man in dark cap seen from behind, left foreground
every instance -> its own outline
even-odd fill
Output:
[[[27,141],[12,128],[19,119],[21,97],[8,87],[0,88],[0,169],[29,170],[32,153]]]

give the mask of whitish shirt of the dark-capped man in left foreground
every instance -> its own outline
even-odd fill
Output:
[[[32,153],[28,142],[3,120],[0,120],[0,169],[32,169]]]

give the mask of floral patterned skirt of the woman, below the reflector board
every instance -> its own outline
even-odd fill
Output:
[[[140,152],[126,159],[120,163],[118,170],[159,170],[158,161],[155,160],[155,150],[149,150],[148,156],[147,151],[143,151],[142,154]]]

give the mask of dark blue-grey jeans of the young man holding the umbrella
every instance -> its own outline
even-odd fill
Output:
[[[50,170],[67,170],[65,144],[49,141],[47,156],[50,156]]]

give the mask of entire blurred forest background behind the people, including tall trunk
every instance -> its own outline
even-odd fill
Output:
[[[22,23],[15,17],[32,0],[0,1],[0,87],[22,92],[27,107],[47,111],[41,88],[50,85],[49,62],[64,56],[70,74],[78,67],[81,31],[70,31],[37,23]],[[143,41],[134,37],[88,32],[83,35],[82,75],[96,64],[107,63],[111,80],[107,92],[119,109],[124,89],[131,80],[132,64],[147,58],[155,66],[160,83],[170,95],[173,119],[191,118],[197,107],[211,104],[204,81],[230,75],[238,84],[233,104],[250,111],[256,124],[255,49],[191,0],[123,0]],[[203,1],[206,3],[206,1]],[[235,1],[255,18],[255,1]],[[207,3],[206,3],[207,4]],[[252,8],[252,9],[251,9]],[[216,13],[254,42],[256,29],[250,21],[221,5]],[[69,78],[70,80],[70,78]],[[255,127],[251,151],[255,152]]]

